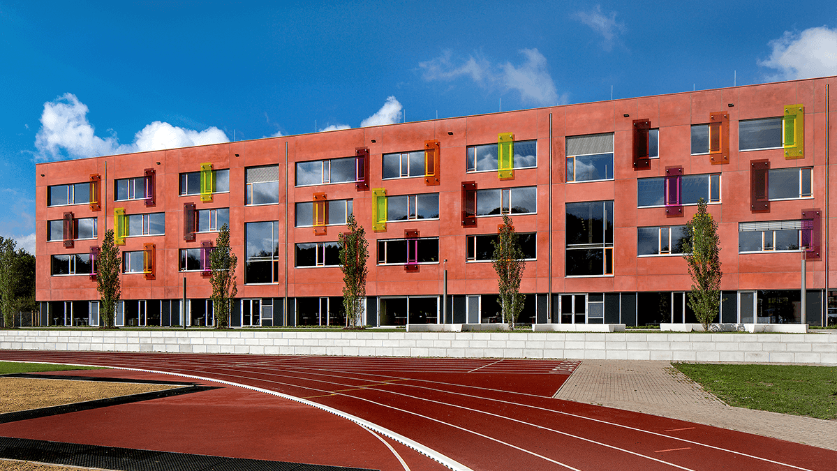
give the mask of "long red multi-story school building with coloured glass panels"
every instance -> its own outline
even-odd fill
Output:
[[[208,251],[229,224],[232,325],[344,325],[337,241],[354,214],[369,242],[365,324],[501,322],[491,241],[510,214],[526,257],[521,322],[691,322],[680,242],[703,198],[721,238],[722,322],[834,322],[829,85],[837,77],[42,163],[40,321],[98,324],[95,260],[115,229],[117,325],[181,325],[184,280],[187,325],[213,325]]]

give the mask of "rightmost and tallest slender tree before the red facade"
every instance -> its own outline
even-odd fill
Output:
[[[709,330],[721,306],[721,243],[718,223],[706,212],[706,201],[697,202],[697,213],[686,223],[683,258],[689,265],[691,291],[689,307],[695,311],[703,330]]]

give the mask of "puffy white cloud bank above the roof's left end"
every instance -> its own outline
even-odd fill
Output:
[[[229,142],[227,135],[214,126],[194,131],[154,121],[134,135],[132,144],[120,144],[116,136],[96,136],[87,112],[87,105],[71,93],[44,103],[41,129],[35,136],[36,158],[54,161],[64,157],[109,156]]]

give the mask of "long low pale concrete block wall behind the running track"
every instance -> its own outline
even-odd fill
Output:
[[[837,365],[837,334],[0,330],[0,349]]]

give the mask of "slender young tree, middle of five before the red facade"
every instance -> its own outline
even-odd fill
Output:
[[[343,308],[346,310],[347,326],[361,324],[363,301],[366,299],[366,279],[369,258],[369,243],[363,226],[357,224],[354,215],[349,215],[347,233],[341,233],[340,269],[343,272]]]

